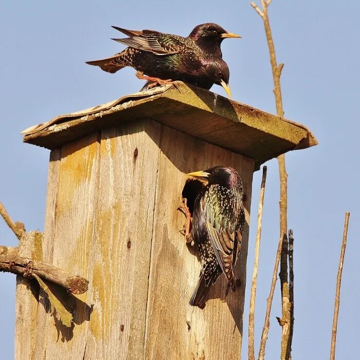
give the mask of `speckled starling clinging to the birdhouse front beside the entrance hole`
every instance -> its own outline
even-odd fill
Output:
[[[208,180],[195,199],[190,233],[199,250],[202,267],[190,305],[203,309],[210,286],[221,273],[236,292],[233,268],[239,255],[245,221],[243,187],[239,174],[226,166],[188,175]]]

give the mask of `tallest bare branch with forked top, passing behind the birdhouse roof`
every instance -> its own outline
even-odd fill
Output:
[[[262,17],[264,22],[265,34],[267,45],[269,49],[269,56],[270,56],[270,63],[273,71],[273,81],[274,81],[274,95],[275,95],[275,102],[276,102],[276,113],[279,117],[284,116],[284,112],[282,109],[282,97],[281,97],[281,86],[280,86],[280,76],[282,68],[284,64],[281,63],[279,66],[277,65],[276,61],[276,53],[275,53],[275,46],[273,41],[273,35],[271,32],[271,27],[269,23],[269,18],[267,15],[267,7],[271,3],[271,0],[261,0],[262,4],[262,13],[259,15]],[[255,5],[255,4],[254,4]],[[254,7],[253,4],[251,6]],[[255,8],[255,7],[254,7]],[[256,8],[255,8],[256,10]],[[285,168],[285,155],[278,156],[278,164],[279,164],[279,176],[280,176],[280,239],[282,239],[282,260],[280,263],[280,281],[281,281],[281,303],[282,303],[282,317],[279,320],[279,323],[282,327],[282,335],[281,335],[281,360],[290,359],[291,353],[290,349],[287,346],[291,343],[289,339],[290,331],[290,309],[291,309],[291,302],[289,300],[289,282],[288,282],[288,275],[287,275],[287,174]]]

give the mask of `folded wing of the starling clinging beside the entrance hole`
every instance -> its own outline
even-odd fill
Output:
[[[201,206],[205,214],[206,229],[215,256],[231,289],[236,291],[232,268],[233,262],[235,265],[233,260],[235,260],[238,250],[238,233],[236,233],[235,224],[230,223],[230,200],[219,191],[221,188],[223,188],[221,185],[211,185],[204,194]]]

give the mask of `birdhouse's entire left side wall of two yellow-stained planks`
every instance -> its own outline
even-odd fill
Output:
[[[71,328],[41,300],[32,358],[143,357],[160,127],[123,124],[100,142],[94,133],[64,146],[49,169],[46,260],[90,283],[67,297]]]

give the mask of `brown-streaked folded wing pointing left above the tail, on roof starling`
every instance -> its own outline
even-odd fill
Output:
[[[138,50],[153,52],[156,55],[170,55],[184,49],[182,39],[176,35],[163,34],[153,30],[142,30],[141,35],[132,36],[128,39],[113,40]]]

